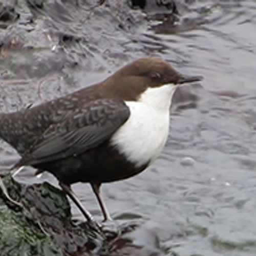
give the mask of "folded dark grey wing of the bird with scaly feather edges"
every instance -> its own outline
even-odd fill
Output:
[[[52,124],[15,166],[76,156],[108,140],[130,116],[121,100],[100,99]]]

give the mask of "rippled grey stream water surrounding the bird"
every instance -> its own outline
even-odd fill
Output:
[[[103,35],[93,34],[90,39],[96,41],[97,49],[90,44],[86,49],[84,42],[76,47],[94,54],[94,61],[87,58],[83,66],[97,73],[74,70],[74,75],[66,72],[71,78],[51,77],[54,89],[45,88],[46,95],[47,90],[49,94],[73,91],[84,86],[84,77],[98,81],[106,71],[152,53],[183,73],[203,75],[202,87],[191,88],[198,96],[194,108],[173,106],[161,157],[137,177],[103,185],[105,201],[120,222],[136,219],[155,229],[167,254],[255,255],[256,1],[194,1],[190,5],[181,1],[178,8],[181,16],[174,26],[155,20],[136,24],[138,28],[130,24],[122,31],[109,27],[103,28]],[[140,11],[133,15],[139,16]],[[113,49],[117,45],[122,47]],[[78,56],[74,49],[67,59]],[[67,81],[72,87],[62,87]],[[7,96],[4,102],[9,109],[22,105],[11,104]],[[22,102],[26,99],[30,97],[25,92]],[[42,97],[30,99],[39,100]],[[1,154],[7,161],[3,166],[17,158],[7,147]],[[17,178],[38,182],[26,169]],[[53,180],[49,174],[40,178],[45,179]],[[89,185],[75,184],[74,190],[100,219]],[[82,218],[75,207],[73,211]]]

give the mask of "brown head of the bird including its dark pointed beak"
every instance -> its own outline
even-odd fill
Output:
[[[170,64],[160,58],[144,57],[124,66],[104,81],[104,88],[112,96],[124,100],[138,100],[148,88],[157,88],[166,84],[202,80],[201,76],[184,76]]]

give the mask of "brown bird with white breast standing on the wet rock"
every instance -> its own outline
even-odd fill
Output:
[[[22,156],[15,168],[52,173],[92,221],[70,187],[89,182],[107,220],[100,185],[137,175],[159,156],[176,86],[201,79],[178,73],[163,59],[140,58],[91,87],[0,114],[0,137]]]

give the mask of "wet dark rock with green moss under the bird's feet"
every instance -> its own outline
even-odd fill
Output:
[[[98,232],[85,222],[72,220],[65,194],[50,184],[20,185],[9,175],[1,181],[0,249],[7,256],[32,251],[42,256],[163,255],[154,231],[113,222],[104,223]]]

